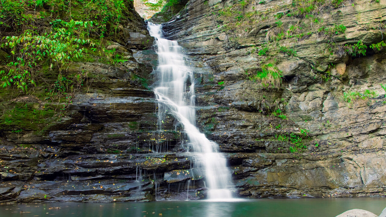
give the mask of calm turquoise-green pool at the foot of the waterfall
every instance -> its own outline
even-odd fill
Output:
[[[60,207],[57,209],[56,207]],[[335,217],[349,209],[379,215],[386,198],[261,199],[245,202],[27,203],[0,205],[0,217]]]

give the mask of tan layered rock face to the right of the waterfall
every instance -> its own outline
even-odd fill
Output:
[[[201,67],[201,129],[229,153],[242,197],[384,196],[386,62],[370,46],[386,37],[385,2],[342,2],[312,16],[294,14],[295,3],[190,1],[164,25]],[[342,53],[358,41],[364,53]],[[249,79],[264,63],[283,72],[279,88]],[[307,148],[288,153],[302,129]]]

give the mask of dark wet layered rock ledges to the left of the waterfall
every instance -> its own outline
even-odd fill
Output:
[[[125,61],[72,63],[68,73],[87,72],[84,86],[66,112],[43,129],[28,117],[23,121],[30,123],[23,125],[2,120],[2,202],[149,201],[156,186],[162,194],[164,172],[173,180],[179,170],[190,169],[190,159],[176,154],[182,138],[174,118],[164,119],[166,130],[157,131],[157,103],[148,87],[157,64],[153,38],[143,19],[128,9],[133,17],[122,21],[106,47]],[[65,106],[33,95],[1,101],[5,109]]]

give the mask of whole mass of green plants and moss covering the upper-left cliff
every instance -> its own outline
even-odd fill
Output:
[[[47,103],[64,104],[59,108],[68,107],[87,75],[68,70],[69,63],[127,61],[115,51],[109,57],[103,37],[113,36],[120,23],[135,18],[130,5],[130,0],[0,0],[0,85],[6,87],[0,91],[12,93],[7,100],[24,92]],[[19,104],[10,110],[14,103],[6,103],[0,128],[42,129],[59,110]]]

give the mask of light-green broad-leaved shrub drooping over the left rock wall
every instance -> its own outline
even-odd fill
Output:
[[[81,39],[76,32],[83,32],[92,21],[64,22],[64,28],[39,35],[34,31],[25,31],[20,36],[7,36],[0,47],[9,49],[12,54],[7,70],[0,71],[1,86],[15,85],[22,91],[36,85],[37,69],[45,61],[50,68],[62,70],[66,63],[83,57],[84,45],[93,46],[90,40]]]

